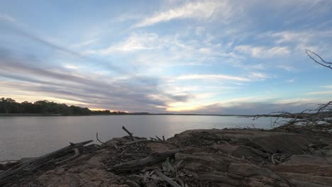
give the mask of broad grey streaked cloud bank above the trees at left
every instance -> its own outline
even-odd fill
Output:
[[[90,108],[109,108],[121,111],[162,111],[169,102],[185,102],[185,93],[167,94],[159,89],[156,77],[129,76],[126,79],[101,76],[58,66],[38,67],[29,57],[12,57],[0,51],[0,95],[15,98],[31,96],[57,101],[77,101]]]

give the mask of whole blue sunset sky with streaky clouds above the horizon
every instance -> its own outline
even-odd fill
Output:
[[[150,113],[331,101],[332,1],[0,0],[0,97]]]

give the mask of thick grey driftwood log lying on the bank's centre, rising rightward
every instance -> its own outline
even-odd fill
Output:
[[[137,159],[130,162],[125,162],[123,164],[116,164],[114,166],[114,171],[121,173],[121,172],[134,172],[138,171],[140,169],[143,169],[147,166],[152,166],[154,164],[157,164],[159,162],[164,161],[168,157],[174,156],[175,153],[181,152],[182,149],[173,149],[168,152],[162,152],[162,153],[154,153],[151,155],[151,157],[146,157],[144,159]]]

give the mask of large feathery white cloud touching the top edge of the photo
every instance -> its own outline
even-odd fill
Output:
[[[182,6],[171,8],[167,11],[155,13],[153,16],[136,23],[135,27],[152,26],[156,23],[172,21],[175,19],[197,18],[207,20],[216,12],[222,12],[223,18],[227,19],[231,13],[231,4],[228,1],[194,1]]]

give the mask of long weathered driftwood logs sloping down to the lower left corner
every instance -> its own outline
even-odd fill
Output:
[[[55,152],[45,154],[41,157],[28,159],[19,164],[16,164],[15,166],[11,167],[11,169],[8,169],[0,174],[0,186],[3,186],[6,183],[13,182],[14,180],[23,178],[23,176],[31,174],[31,172],[33,172],[37,169],[40,169],[40,167],[42,167],[42,166],[52,165],[55,163],[62,164],[64,162],[67,162],[70,159],[63,160],[63,157],[67,156],[67,154],[69,154],[70,152],[72,152],[75,149],[77,149],[77,151],[75,151],[75,155],[77,155],[76,152],[78,152],[78,149],[80,147],[83,147],[84,145],[87,145],[91,142],[93,142],[93,140],[79,142],[77,144],[71,143],[70,146],[64,147]],[[71,158],[71,159],[74,159],[74,158]],[[63,161],[61,161],[61,160],[63,160]]]

